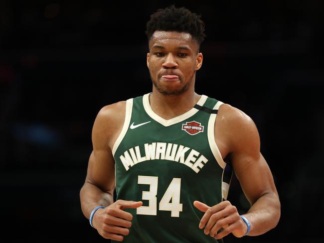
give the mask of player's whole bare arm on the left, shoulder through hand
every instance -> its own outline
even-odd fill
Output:
[[[125,208],[137,208],[142,202],[117,200],[114,202],[115,161],[112,147],[120,133],[125,119],[125,102],[116,103],[100,110],[93,125],[92,144],[85,183],[80,190],[81,208],[89,219],[92,210],[98,209],[93,216],[93,226],[98,233],[115,241],[123,241],[129,234],[132,214]]]

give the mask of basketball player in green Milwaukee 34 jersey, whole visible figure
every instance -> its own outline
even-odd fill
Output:
[[[254,122],[194,91],[200,16],[159,9],[146,33],[153,91],[98,113],[80,191],[84,215],[112,242],[215,243],[271,230],[280,201]],[[251,203],[241,216],[226,200],[232,169]]]

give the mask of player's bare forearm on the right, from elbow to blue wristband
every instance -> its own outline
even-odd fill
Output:
[[[280,218],[278,196],[270,193],[261,196],[243,216],[251,224],[249,236],[258,236],[268,232],[276,227]]]

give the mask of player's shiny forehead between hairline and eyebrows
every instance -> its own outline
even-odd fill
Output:
[[[194,48],[195,41],[189,33],[157,30],[153,33],[150,39],[150,48],[154,44],[188,45],[190,48]]]

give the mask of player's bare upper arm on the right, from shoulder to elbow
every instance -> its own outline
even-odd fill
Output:
[[[262,195],[276,194],[271,170],[260,152],[260,137],[255,123],[241,113],[233,129],[236,130],[231,161],[247,199],[253,204]]]

